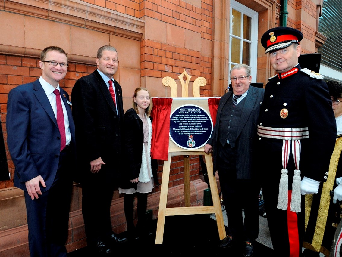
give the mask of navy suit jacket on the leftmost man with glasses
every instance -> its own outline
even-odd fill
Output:
[[[60,87],[70,124],[70,146],[75,154],[75,124],[68,94]],[[61,134],[55,114],[39,80],[15,87],[8,94],[7,144],[15,166],[14,186],[26,191],[25,182],[41,175],[49,190],[55,179]],[[74,158],[75,160],[75,158]],[[73,166],[70,163],[70,170]],[[71,174],[70,174],[71,176]]]

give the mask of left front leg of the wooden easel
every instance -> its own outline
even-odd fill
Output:
[[[170,177],[171,153],[169,152],[168,160],[164,161],[163,175],[161,178],[159,211],[156,231],[156,244],[163,243],[166,202],[168,200],[169,177]]]

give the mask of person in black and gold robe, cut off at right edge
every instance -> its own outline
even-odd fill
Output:
[[[330,159],[327,181],[320,183],[318,194],[305,195],[305,221],[303,257],[330,254],[330,247],[341,218],[342,200],[342,85],[327,82],[337,127],[336,144]],[[333,190],[333,191],[332,191]]]

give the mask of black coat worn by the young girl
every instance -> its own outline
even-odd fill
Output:
[[[151,117],[149,119],[152,120]],[[139,177],[143,144],[144,132],[143,121],[139,118],[136,111],[131,108],[124,115],[124,143],[125,162],[120,173],[120,188],[128,189],[135,188],[137,183],[132,183],[129,180]]]

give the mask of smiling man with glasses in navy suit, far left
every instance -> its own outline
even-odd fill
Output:
[[[14,186],[24,190],[31,256],[67,256],[75,125],[69,96],[58,82],[66,75],[68,57],[49,46],[39,66],[38,80],[8,95],[7,144]]]

